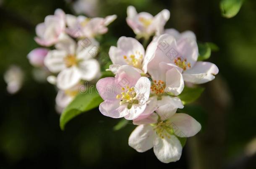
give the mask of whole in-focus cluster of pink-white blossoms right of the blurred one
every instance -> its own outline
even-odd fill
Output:
[[[128,37],[120,37],[117,46],[111,46],[109,56],[113,64],[108,71],[115,77],[97,82],[99,95],[104,99],[99,111],[138,125],[128,140],[136,151],[153,148],[160,161],[177,161],[182,153],[179,139],[201,130],[199,122],[191,116],[176,112],[184,107],[177,96],[185,82],[212,81],[218,68],[213,63],[197,61],[199,50],[193,32],[164,30],[170,15],[168,10],[153,17],[137,13],[130,6],[127,13],[127,23],[137,38],[146,40],[155,36],[146,50],[138,40]]]

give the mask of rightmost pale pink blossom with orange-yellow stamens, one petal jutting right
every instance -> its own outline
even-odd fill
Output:
[[[148,68],[154,68],[159,62],[170,63],[182,68],[185,82],[201,84],[212,81],[219,69],[214,63],[197,61],[199,52],[195,35],[192,32],[167,32],[172,32],[172,35],[155,37],[150,44],[155,51],[148,57]]]

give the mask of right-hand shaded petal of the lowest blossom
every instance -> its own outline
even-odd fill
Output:
[[[169,120],[179,137],[192,137],[201,130],[201,124],[188,114],[176,113]]]

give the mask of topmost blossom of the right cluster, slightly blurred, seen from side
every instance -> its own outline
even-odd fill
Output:
[[[137,13],[133,6],[128,6],[126,22],[138,38],[144,37],[148,39],[154,33],[161,35],[169,18],[170,12],[166,9],[156,16],[152,16],[146,12]]]

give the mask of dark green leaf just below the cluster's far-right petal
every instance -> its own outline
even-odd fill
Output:
[[[203,87],[196,87],[196,88],[188,88],[185,86],[182,93],[178,96],[182,103],[188,104],[193,101],[196,101],[201,96],[201,93],[203,93],[204,88]]]

